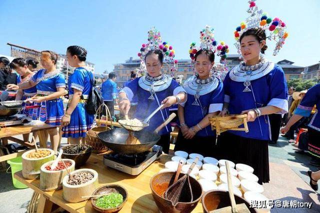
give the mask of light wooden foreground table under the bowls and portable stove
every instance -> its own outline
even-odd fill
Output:
[[[158,208],[152,198],[149,181],[151,177],[161,168],[164,163],[170,160],[170,155],[162,154],[160,158],[149,165],[137,176],[115,170],[103,165],[103,155],[92,153],[88,161],[81,168],[92,168],[98,172],[99,186],[116,183],[126,188],[128,199],[120,212],[158,212]],[[68,203],[62,198],[62,189],[56,191],[42,191],[39,189],[40,180],[26,180],[21,171],[16,172],[14,177],[28,187],[40,194],[37,212],[50,212],[52,204],[55,203],[69,212],[96,212],[90,200]],[[194,208],[193,212],[202,212],[201,201]]]

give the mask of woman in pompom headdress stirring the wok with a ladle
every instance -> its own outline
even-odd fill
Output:
[[[141,52],[138,54],[141,58],[141,67],[145,64],[147,73],[132,80],[119,92],[119,108],[127,114],[130,101],[136,96],[137,107],[134,117],[141,120],[163,103],[162,109],[150,119],[149,126],[144,128],[144,130],[153,131],[169,116],[168,107],[174,103],[183,103],[186,100],[186,94],[183,87],[175,80],[161,73],[163,58],[170,61],[169,65],[173,63],[172,47],[166,42],[162,43],[160,32],[154,28],[148,33],[148,38],[151,39],[148,44],[142,44]],[[158,132],[161,138],[157,144],[162,146],[165,153],[169,151],[170,132],[170,125],[166,125]]]

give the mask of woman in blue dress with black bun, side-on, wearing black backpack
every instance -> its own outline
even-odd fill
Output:
[[[93,126],[94,114],[88,114],[85,103],[92,90],[93,74],[85,68],[86,50],[81,46],[69,46],[66,58],[75,67],[68,79],[69,103],[62,117],[62,137],[71,144],[84,141],[86,132]]]

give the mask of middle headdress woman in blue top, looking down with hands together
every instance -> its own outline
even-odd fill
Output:
[[[178,106],[180,131],[174,150],[217,157],[215,131],[211,129],[208,117],[222,110],[224,94],[223,83],[212,71],[216,51],[213,29],[206,26],[200,32],[200,40],[200,47],[195,47],[194,42],[190,46],[190,57],[196,73],[183,84],[187,101]],[[225,47],[227,45],[221,55],[225,55]]]

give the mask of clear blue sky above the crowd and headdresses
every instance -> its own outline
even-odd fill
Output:
[[[277,56],[272,56],[273,43],[267,43],[268,59],[285,58],[302,66],[320,60],[320,0],[256,4],[285,21],[289,32]],[[7,42],[58,53],[80,45],[96,72],[102,72],[136,58],[153,25],[173,46],[176,59],[189,58],[189,44],[199,42],[199,30],[206,24],[215,29],[216,40],[230,46],[229,53],[236,53],[233,31],[247,8],[247,0],[0,0],[0,54],[10,53]]]

